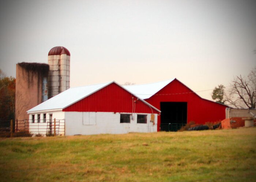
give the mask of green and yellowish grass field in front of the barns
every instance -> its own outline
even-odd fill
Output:
[[[256,128],[0,139],[0,181],[256,181]]]

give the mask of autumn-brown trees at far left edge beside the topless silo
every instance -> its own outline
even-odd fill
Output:
[[[15,78],[5,76],[0,70],[0,120],[14,119]]]

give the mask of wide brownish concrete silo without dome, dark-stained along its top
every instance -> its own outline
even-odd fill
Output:
[[[27,110],[47,100],[47,77],[49,65],[44,63],[16,64],[15,119],[24,130]]]

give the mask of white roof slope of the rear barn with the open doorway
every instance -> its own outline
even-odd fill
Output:
[[[123,87],[141,99],[148,99],[173,80],[174,79],[147,84],[125,85]]]

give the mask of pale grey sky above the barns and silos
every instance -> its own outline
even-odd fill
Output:
[[[1,1],[0,68],[71,52],[71,86],[177,78],[194,91],[256,66],[256,1]],[[211,91],[198,92],[210,99]]]

